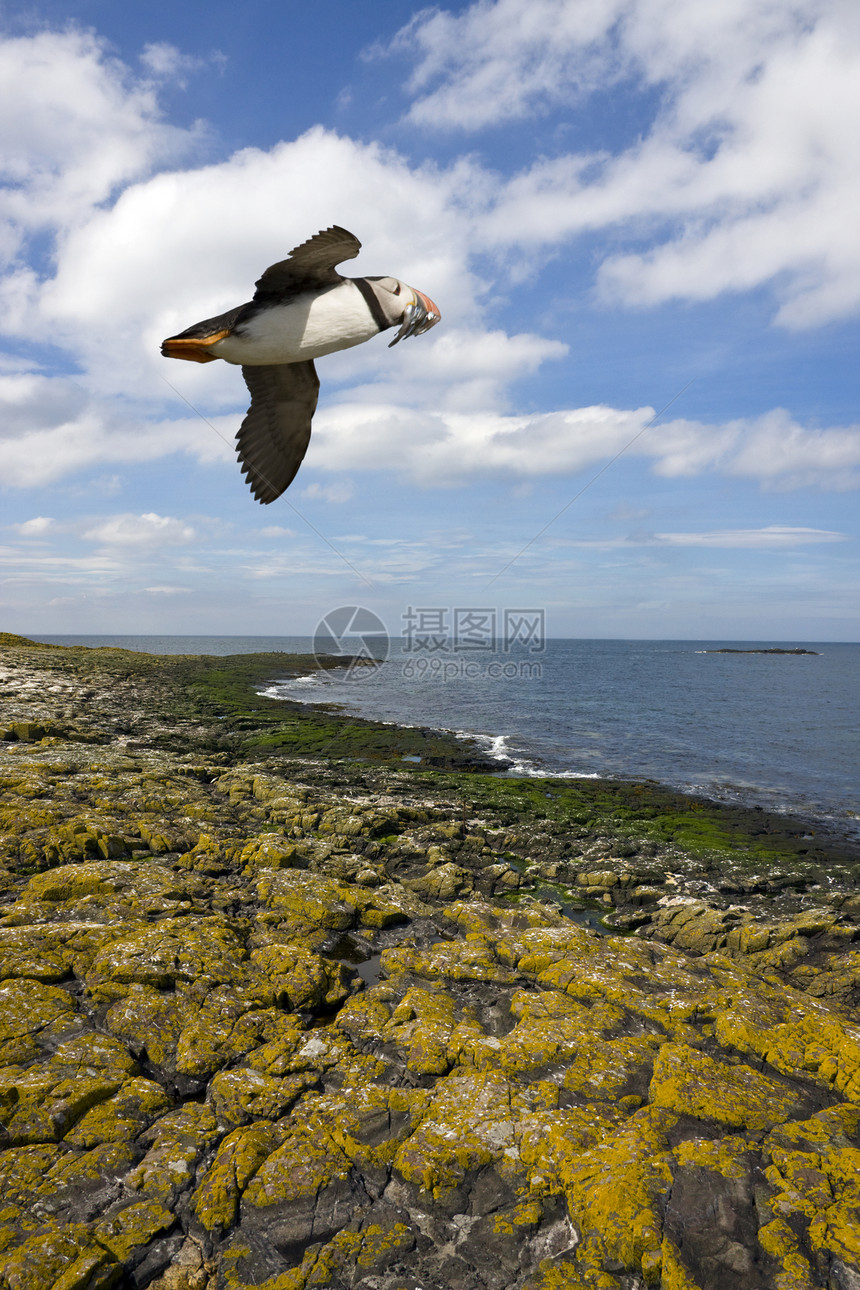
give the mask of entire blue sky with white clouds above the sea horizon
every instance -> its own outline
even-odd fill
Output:
[[[0,627],[860,637],[847,0],[1,13]],[[442,321],[320,360],[262,507],[159,344],[330,223]]]

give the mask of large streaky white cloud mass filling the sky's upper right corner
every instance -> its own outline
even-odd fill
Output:
[[[418,66],[410,119],[474,129],[618,93],[659,90],[642,135],[539,160],[489,195],[499,246],[620,226],[645,250],[600,268],[633,304],[771,284],[777,320],[860,304],[860,19],[845,0],[478,0],[422,10],[395,41]],[[641,117],[640,117],[641,120]]]

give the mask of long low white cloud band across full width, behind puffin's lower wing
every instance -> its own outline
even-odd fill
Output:
[[[469,348],[467,338],[463,347]],[[456,370],[454,344],[442,350],[436,382],[422,386],[415,357],[396,381],[353,390],[343,402],[324,401],[307,467],[338,475],[396,470],[427,486],[456,486],[494,475],[523,484],[547,475],[574,476],[627,450],[650,459],[656,473],[676,479],[716,471],[772,489],[860,486],[860,426],[805,427],[784,409],[717,424],[676,419],[641,437],[654,415],[651,408],[592,406],[520,415],[494,410],[503,387],[490,383],[493,370],[498,369],[500,383],[505,359],[511,375],[518,357],[522,370],[542,352],[561,356],[563,346],[487,333],[473,338],[472,353],[463,360],[472,381],[451,382],[462,392],[459,400],[436,395],[437,384],[445,386],[445,365],[450,361]],[[429,353],[433,368],[437,360]],[[239,373],[228,375],[241,382]],[[484,391],[484,400],[468,399],[476,388]],[[228,414],[147,423],[143,410],[129,415],[89,397],[77,382],[40,374],[0,377],[0,479],[6,488],[36,488],[94,466],[156,461],[181,452],[235,471],[239,421],[237,414]],[[311,480],[303,495],[344,502],[348,488],[343,480],[329,485]]]

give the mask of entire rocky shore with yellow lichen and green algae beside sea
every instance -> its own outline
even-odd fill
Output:
[[[857,848],[307,666],[0,636],[0,1287],[856,1290]]]

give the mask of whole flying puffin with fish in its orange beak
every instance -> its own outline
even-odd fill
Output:
[[[361,243],[333,224],[266,270],[254,299],[168,337],[166,359],[241,365],[251,405],[236,452],[258,502],[289,488],[311,439],[320,381],[313,360],[397,326],[391,342],[420,335],[440,320],[436,304],[397,277],[343,277]],[[391,346],[389,346],[391,348]]]

